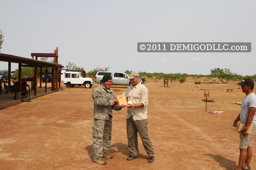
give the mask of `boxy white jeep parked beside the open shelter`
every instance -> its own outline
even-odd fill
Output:
[[[66,84],[66,87],[84,85],[85,88],[90,88],[94,84],[92,78],[82,77],[81,72],[65,71],[63,74],[63,83]]]

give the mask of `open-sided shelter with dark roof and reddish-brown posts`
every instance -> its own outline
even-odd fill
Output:
[[[45,67],[46,69],[48,67],[52,68],[52,74],[53,75],[58,75],[62,70],[62,65],[57,64],[57,63],[51,63],[51,62],[44,62],[44,61],[39,61],[35,59],[28,59],[25,57],[20,57],[20,56],[14,56],[14,55],[9,55],[9,54],[3,54],[0,53],[0,61],[8,62],[8,86],[11,86],[11,63],[18,63],[18,85],[17,85],[17,92],[21,93],[21,84],[22,81],[26,81],[26,79],[21,78],[21,73],[22,73],[22,67],[32,67],[34,68],[34,73],[33,73],[33,78],[31,77],[27,81],[33,81],[33,90],[34,90],[34,96],[36,96],[36,89],[37,89],[37,68],[40,67],[40,70],[42,70],[42,67]],[[45,93],[46,93],[46,87],[47,87],[47,81],[45,82]],[[61,78],[60,74],[59,76],[55,77],[52,76],[52,87],[51,91],[56,90],[57,88],[61,88]]]

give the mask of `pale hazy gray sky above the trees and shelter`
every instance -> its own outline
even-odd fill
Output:
[[[1,0],[2,53],[53,53],[85,71],[256,74],[256,1]],[[250,53],[138,53],[138,42],[251,42]],[[49,58],[51,60],[51,58]],[[17,64],[12,63],[12,70]],[[0,70],[8,69],[0,62]]]

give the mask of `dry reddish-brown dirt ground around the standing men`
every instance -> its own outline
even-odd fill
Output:
[[[202,80],[204,82],[204,80]],[[239,159],[239,134],[232,124],[245,96],[238,85],[177,83],[163,87],[163,80],[144,84],[150,91],[149,134],[155,149],[155,162],[139,139],[138,159],[129,156],[126,136],[126,109],[113,111],[112,141],[114,156],[106,165],[92,162],[92,124],[94,87],[64,88],[32,102],[0,110],[0,169],[192,169],[231,170]],[[121,95],[127,86],[111,87]],[[226,92],[227,88],[233,92]],[[194,90],[192,90],[194,89]],[[204,91],[210,89],[205,114]],[[208,92],[208,91],[207,91]],[[54,99],[55,98],[55,99]],[[256,149],[254,143],[252,148]],[[253,153],[251,168],[256,168]]]

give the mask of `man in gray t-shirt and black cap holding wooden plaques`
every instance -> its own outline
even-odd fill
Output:
[[[237,168],[234,170],[251,170],[250,162],[252,156],[251,140],[256,133],[256,95],[252,92],[254,82],[250,78],[245,78],[242,82],[238,83],[242,87],[245,97],[241,104],[241,111],[234,121],[233,126],[237,126],[237,122],[245,123],[244,128],[240,132],[240,156]],[[252,124],[251,133],[247,134],[248,127]]]

